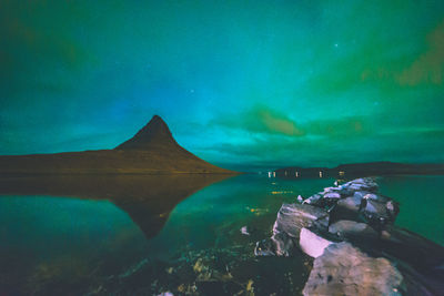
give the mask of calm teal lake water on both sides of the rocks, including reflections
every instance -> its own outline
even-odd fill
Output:
[[[282,203],[334,180],[220,178],[0,182],[0,294],[300,293],[310,259],[256,258],[255,242],[271,235]],[[444,176],[377,182],[401,204],[397,225],[444,245]]]

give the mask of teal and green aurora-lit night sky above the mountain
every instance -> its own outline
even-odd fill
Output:
[[[443,72],[442,0],[2,0],[0,154],[159,114],[231,169],[444,162]]]

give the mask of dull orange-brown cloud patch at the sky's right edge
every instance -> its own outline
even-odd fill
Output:
[[[444,21],[428,34],[427,40],[427,50],[396,76],[400,84],[442,84],[444,68]]]

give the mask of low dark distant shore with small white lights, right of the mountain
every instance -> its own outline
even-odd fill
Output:
[[[280,177],[356,177],[372,175],[441,175],[444,164],[405,164],[395,162],[369,162],[341,164],[336,167],[289,166],[274,171]]]

